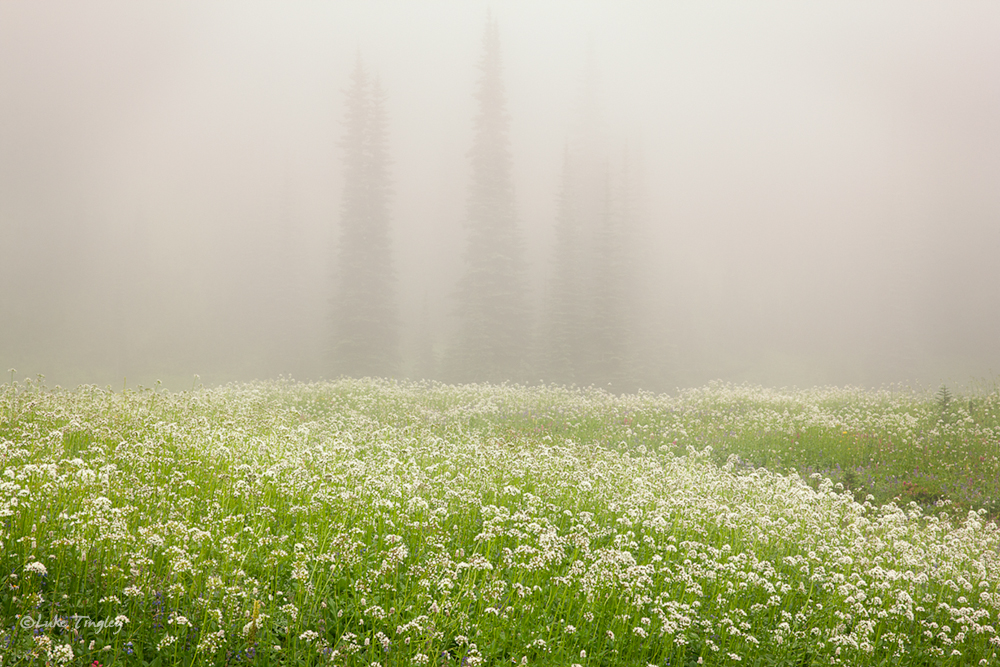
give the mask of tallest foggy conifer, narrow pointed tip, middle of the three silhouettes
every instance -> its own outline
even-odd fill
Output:
[[[514,210],[500,37],[492,17],[483,45],[470,151],[465,271],[456,294],[458,338],[448,366],[454,380],[498,382],[527,374],[527,267]]]

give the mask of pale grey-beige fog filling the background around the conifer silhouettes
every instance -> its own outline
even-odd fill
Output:
[[[641,372],[581,382],[1000,372],[1000,5],[464,0],[0,3],[0,370],[334,376],[360,58],[385,93],[395,374],[452,379],[488,16],[535,341],[511,379],[565,381],[537,360],[584,148],[628,167]]]

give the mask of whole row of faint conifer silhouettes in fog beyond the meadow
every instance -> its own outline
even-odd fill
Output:
[[[551,274],[534,312],[514,197],[509,115],[496,20],[488,19],[475,91],[463,272],[457,327],[415,358],[401,353],[389,198],[385,92],[359,55],[347,90],[344,196],[331,299],[333,375],[411,376],[453,382],[648,384],[656,358],[643,309],[637,179],[627,151],[613,158],[596,136],[564,147]],[[644,377],[645,376],[645,377]]]

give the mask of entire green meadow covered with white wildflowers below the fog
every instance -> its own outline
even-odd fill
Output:
[[[0,664],[1000,664],[1000,392],[0,389]]]

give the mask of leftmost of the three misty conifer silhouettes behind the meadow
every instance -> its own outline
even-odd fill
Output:
[[[334,373],[392,376],[399,323],[389,217],[385,94],[358,57],[347,90],[344,198],[334,279]]]

